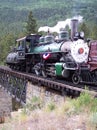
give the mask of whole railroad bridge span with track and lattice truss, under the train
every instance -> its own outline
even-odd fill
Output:
[[[45,86],[61,95],[69,95],[72,97],[79,96],[81,92],[89,92],[94,97],[97,97],[97,86],[79,84],[74,85],[70,81],[51,78],[38,77],[34,74],[17,72],[9,69],[6,66],[0,66],[0,84],[7,89],[19,101],[26,102],[26,83],[31,82],[38,86]],[[13,82],[13,84],[12,84]],[[17,85],[18,84],[18,85]],[[22,87],[18,87],[22,84]],[[87,88],[87,89],[86,89]]]

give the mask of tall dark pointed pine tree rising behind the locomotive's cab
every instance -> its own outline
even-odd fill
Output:
[[[37,30],[37,23],[33,16],[32,11],[30,11],[27,20],[26,33],[27,34],[37,33],[36,30]]]

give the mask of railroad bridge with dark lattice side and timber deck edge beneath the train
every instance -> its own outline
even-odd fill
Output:
[[[21,73],[17,71],[12,71],[7,67],[0,67],[0,85],[8,92],[12,97],[14,97],[21,104],[26,104],[27,95],[31,88],[29,88],[29,82],[38,86],[38,88],[46,87],[47,89],[53,89],[61,92],[62,95],[72,93],[73,95],[79,95],[80,92],[85,90],[85,85],[82,88],[74,87],[72,85],[67,85],[65,83],[56,82],[51,79],[44,79],[42,77],[37,77],[32,74]],[[30,86],[31,87],[31,86]],[[90,91],[94,96],[97,96],[97,92]],[[31,95],[30,95],[31,96]]]

